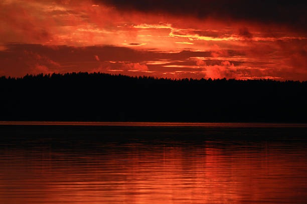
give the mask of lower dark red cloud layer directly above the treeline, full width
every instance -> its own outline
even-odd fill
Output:
[[[0,50],[0,63],[1,74],[7,76],[99,71],[172,78],[270,77],[305,80],[307,54],[301,43],[301,40],[282,41],[278,49],[276,44],[267,47],[256,43],[241,50],[221,49],[213,45],[211,51],[14,43],[6,44],[6,49]]]

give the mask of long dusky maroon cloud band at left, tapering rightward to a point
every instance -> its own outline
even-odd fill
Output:
[[[97,55],[100,61],[131,61],[140,62],[147,60],[182,60],[189,57],[211,56],[210,51],[183,50],[180,52],[159,52],[150,50],[137,50],[123,46],[93,45],[75,47],[67,45],[42,45],[42,44],[7,44],[5,51],[0,51],[0,56],[32,51],[42,55],[48,55],[52,59],[60,61],[91,61]]]

